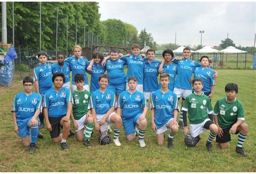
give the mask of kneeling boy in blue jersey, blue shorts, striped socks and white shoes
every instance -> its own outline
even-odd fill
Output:
[[[136,90],[137,79],[130,76],[128,79],[129,89],[119,96],[117,114],[122,115],[125,135],[128,141],[134,140],[136,136],[136,125],[139,127],[139,145],[146,146],[144,136],[147,128],[147,102],[143,93]]]

